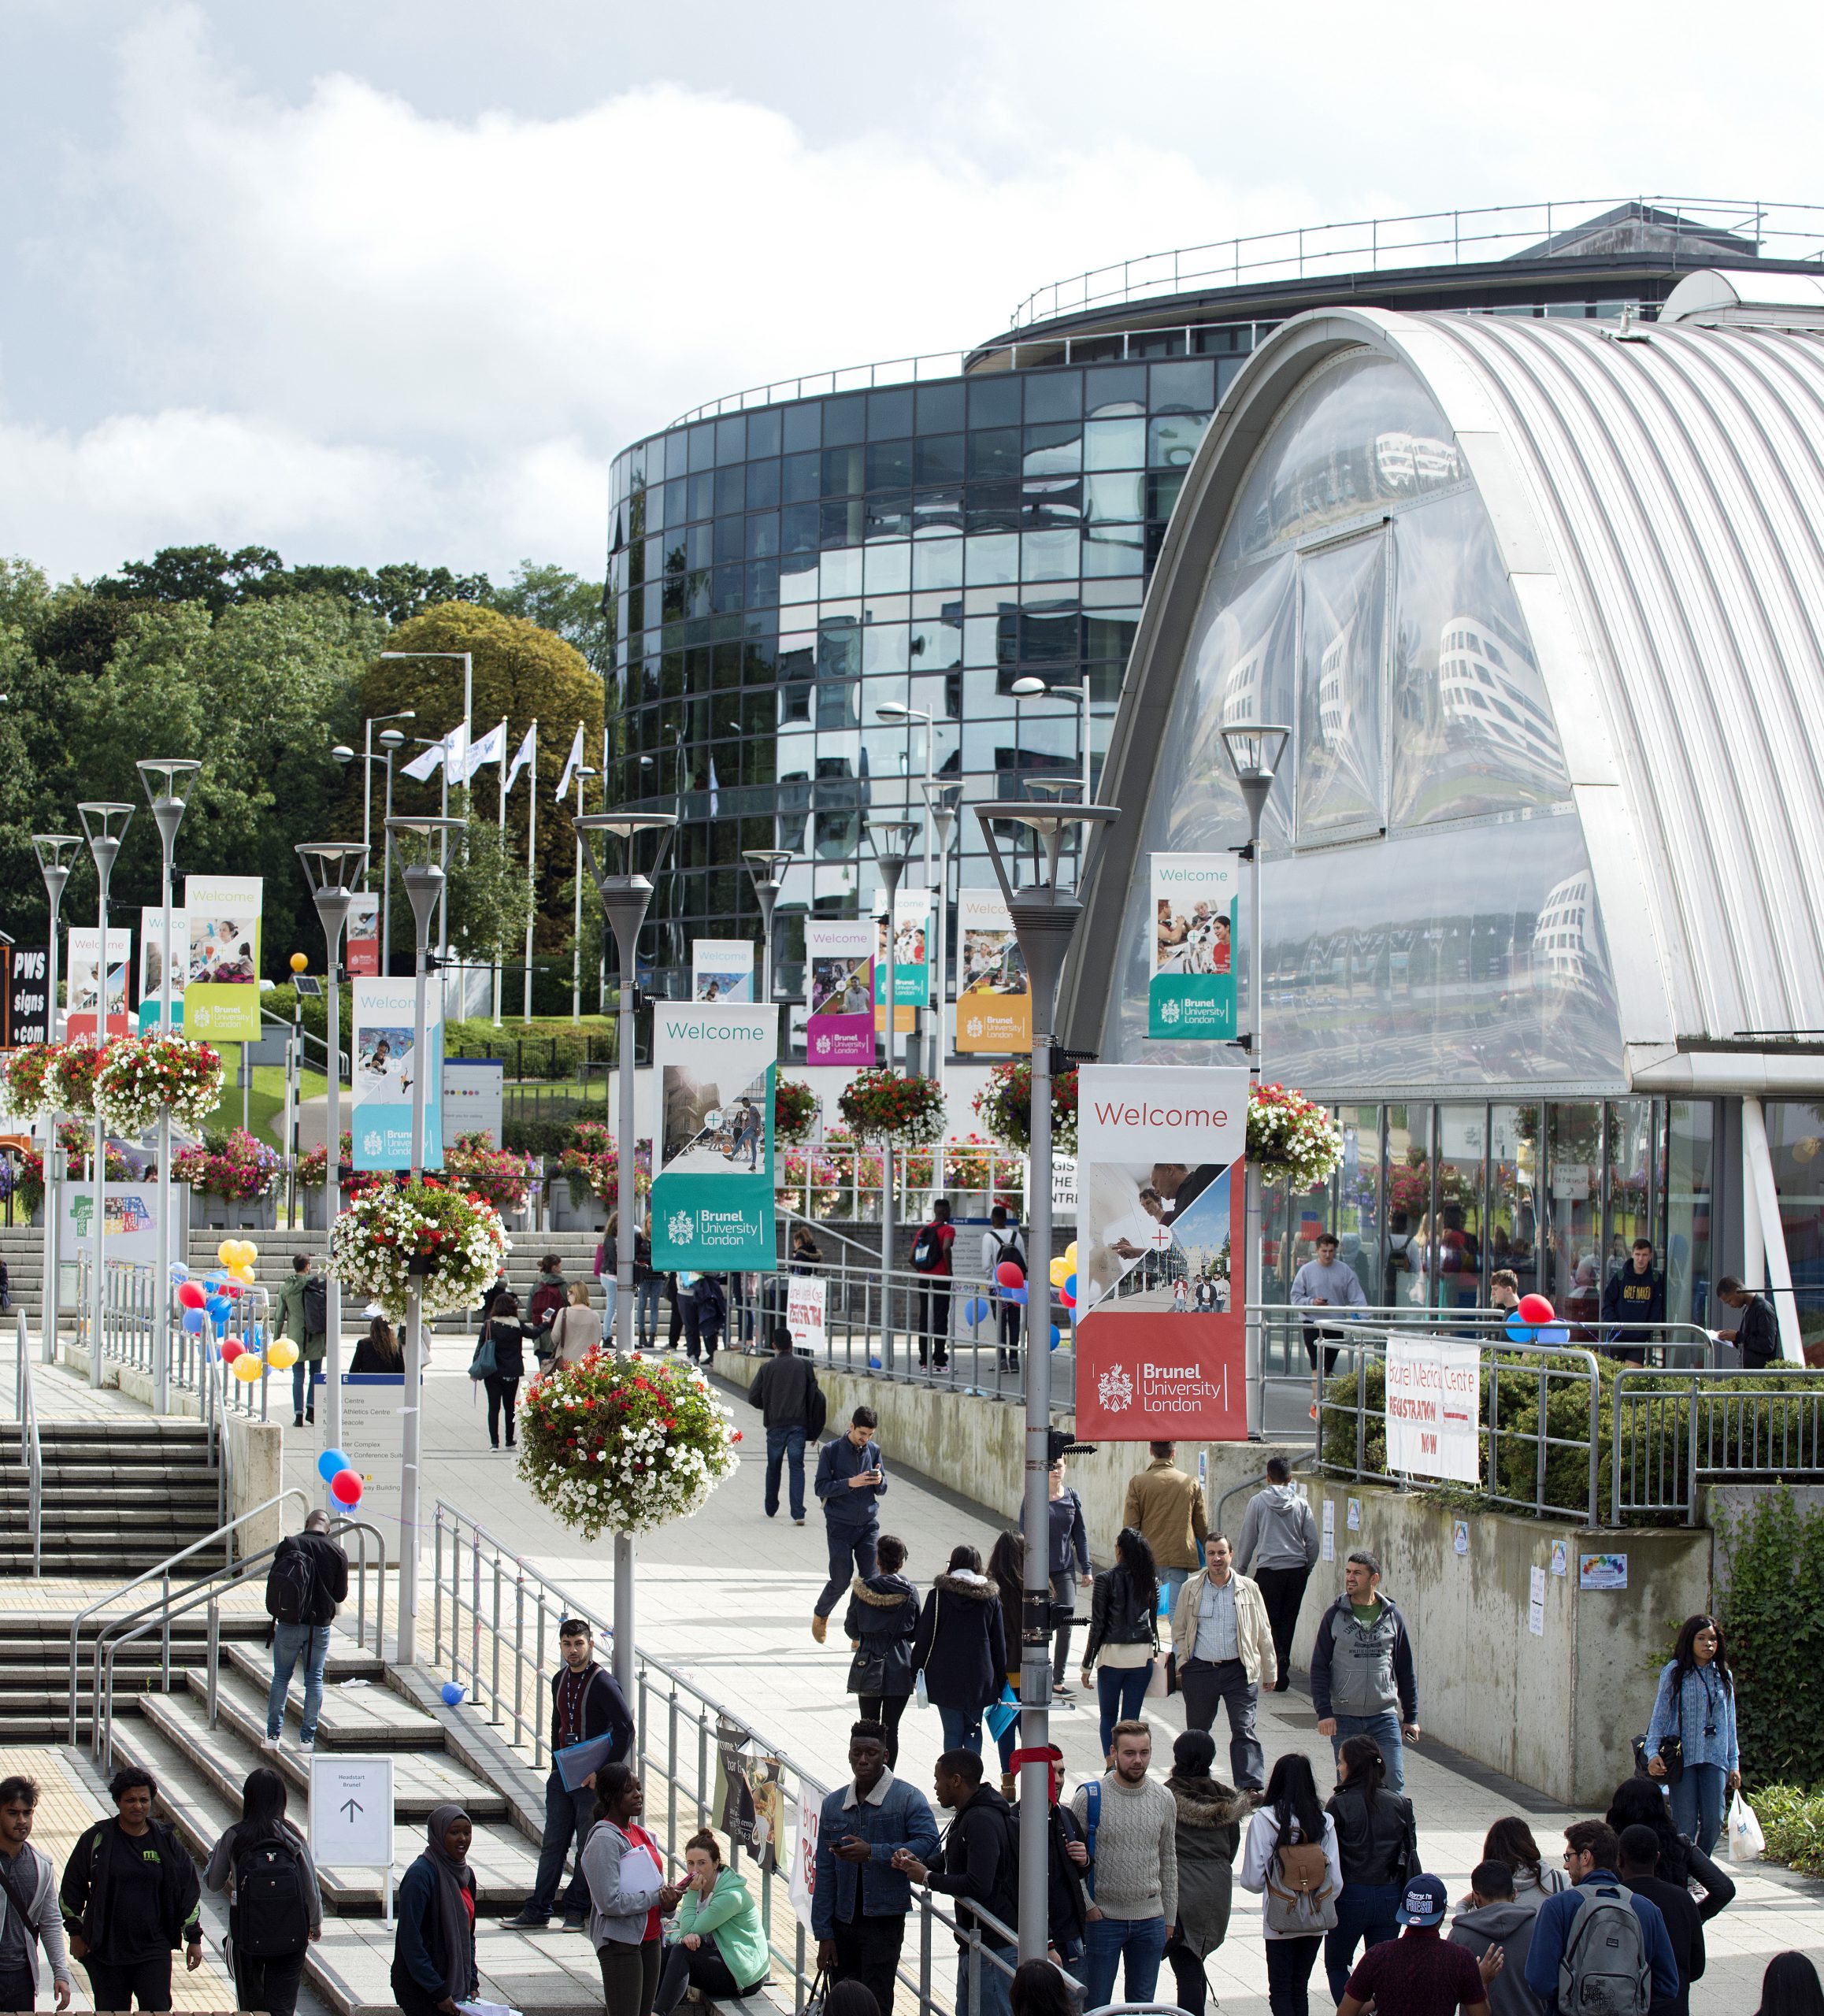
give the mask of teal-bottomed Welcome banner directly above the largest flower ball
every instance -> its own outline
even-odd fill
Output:
[[[772,1079],[778,1010],[657,1002],[659,1173],[653,1266],[703,1274],[774,1264]]]

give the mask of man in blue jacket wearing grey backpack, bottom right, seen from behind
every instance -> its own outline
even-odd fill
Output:
[[[1526,1986],[1546,2016],[1647,2016],[1679,1996],[1679,1962],[1651,1897],[1614,1873],[1620,1843],[1604,1820],[1564,1829],[1572,1889],[1540,1905]]]

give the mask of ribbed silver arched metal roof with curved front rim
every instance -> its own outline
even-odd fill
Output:
[[[1167,536],[1100,790],[1133,816],[1094,867],[1084,935],[1115,929],[1141,867],[1159,730],[1248,462],[1292,389],[1354,347],[1417,373],[1489,510],[1564,742],[1631,1073],[1667,1073],[1691,1044],[1824,1030],[1810,331],[1369,308],[1286,323],[1223,401]],[[1066,980],[1076,1042],[1100,1020],[1084,980]]]

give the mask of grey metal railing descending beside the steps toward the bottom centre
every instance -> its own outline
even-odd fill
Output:
[[[564,1591],[441,1498],[433,1536],[431,1663],[464,1681],[474,1706],[486,1710],[496,1726],[510,1728],[510,1742],[530,1752],[532,1766],[538,1768],[550,1756],[550,1671],[558,1659],[558,1623],[564,1617],[584,1617],[609,1645],[613,1625],[599,1605]],[[816,1951],[790,1905],[786,1855],[796,1853],[798,1816],[806,1802],[822,1804],[832,1786],[744,1716],[641,1647],[635,1647],[635,1699],[629,1706],[637,1734],[631,1762],[647,1784],[645,1826],[661,1837],[665,1853],[681,1859],[683,1843],[701,1826],[726,1831],[718,1802],[718,1778],[724,1776],[726,1762],[740,1758],[750,1784],[762,1792],[756,1806],[770,1808],[772,1833],[758,1855],[760,1919],[774,1966],[790,1970],[792,2008],[802,2016],[816,1980]],[[653,1796],[659,1790],[663,1802]],[[742,1841],[730,1835],[730,1867],[740,1867],[742,1853]],[[990,1935],[1006,1945],[1016,1943],[1014,1927],[980,1905],[971,1905],[971,1911],[984,1919]],[[913,1972],[903,1964],[899,1980],[915,1996],[919,2016],[955,2008],[947,1992],[937,1992],[939,1970],[933,1968],[931,1941],[941,1929],[955,1933],[957,1949],[967,1954],[971,1986],[980,1982],[984,1966],[1012,1978],[1014,1966],[984,1941],[982,1927],[963,1927],[929,1891],[913,1889],[913,1913],[917,1947],[915,1956],[907,1956]],[[947,1990],[953,1974],[943,1970],[943,1980]],[[1078,1984],[1070,1986],[1080,1998]],[[980,1996],[971,2000],[980,2006]]]

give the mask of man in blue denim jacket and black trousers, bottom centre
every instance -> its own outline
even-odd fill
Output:
[[[849,1730],[851,1784],[822,1802],[810,1929],[816,1964],[832,1982],[861,1982],[881,2016],[893,2016],[893,1978],[911,1913],[911,1881],[897,1867],[901,1851],[937,1861],[937,1820],[923,1792],[887,1770],[887,1732],[879,1722]]]

